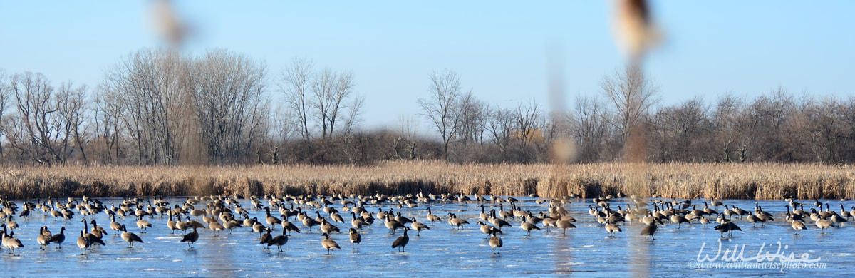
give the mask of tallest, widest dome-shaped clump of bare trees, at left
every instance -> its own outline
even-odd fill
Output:
[[[265,74],[264,63],[227,50],[127,56],[95,94],[98,162],[245,163],[268,128]]]

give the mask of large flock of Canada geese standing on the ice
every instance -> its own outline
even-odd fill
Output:
[[[32,217],[42,217],[47,220],[52,217],[53,222],[64,223],[58,234],[53,234],[48,226],[44,226],[39,228],[38,234],[32,235],[39,250],[46,250],[51,244],[55,245],[55,248],[62,248],[62,244],[66,241],[65,232],[72,227],[83,228],[80,230],[80,236],[74,241],[83,255],[86,251],[94,250],[97,245],[106,245],[103,236],[108,234],[107,228],[111,229],[114,235],[120,235],[121,239],[127,242],[127,248],[133,248],[134,243],[145,242],[139,234],[146,234],[148,228],[155,225],[165,225],[173,234],[183,233],[180,242],[186,243],[191,249],[195,248],[194,243],[199,240],[201,231],[209,230],[210,236],[218,237],[226,230],[232,234],[233,229],[247,229],[245,233],[257,234],[258,244],[262,245],[262,248],[268,249],[275,245],[278,251],[283,251],[293,232],[300,234],[317,228],[322,237],[321,247],[327,251],[327,255],[330,255],[331,251],[341,249],[338,242],[331,238],[331,234],[342,234],[337,225],[350,224],[351,228],[346,232],[349,234],[347,240],[355,250],[359,249],[363,234],[369,234],[365,229],[374,227],[375,222],[385,227],[390,234],[403,230],[404,234],[392,242],[392,248],[404,251],[405,246],[410,242],[410,230],[415,232],[416,236],[421,236],[423,231],[435,228],[436,222],[447,222],[451,229],[462,229],[466,225],[471,225],[469,220],[457,216],[454,211],[438,216],[433,214],[430,207],[431,204],[465,203],[476,204],[475,207],[481,210],[476,224],[479,225],[481,233],[486,234],[486,240],[493,253],[500,253],[504,243],[499,234],[508,233],[509,228],[514,226],[522,229],[526,236],[532,236],[534,231],[549,232],[550,229],[561,229],[562,234],[566,234],[568,228],[576,228],[573,223],[576,219],[570,216],[564,206],[571,201],[587,201],[575,195],[553,199],[539,198],[534,194],[528,197],[534,200],[534,204],[531,204],[532,200],[520,202],[513,197],[487,198],[478,194],[470,197],[463,192],[441,195],[419,193],[404,196],[333,194],[331,196],[277,197],[268,195],[251,196],[248,204],[243,203],[247,204],[249,210],[242,204],[245,198],[239,195],[186,198],[181,204],[170,204],[163,198],[125,198],[119,204],[109,205],[88,197],[67,198],[66,202],[58,198],[49,198],[25,202],[21,205],[0,198],[0,206],[3,207],[0,211],[0,220],[3,222],[3,247],[7,248],[12,256],[21,256],[21,248],[24,247],[21,239],[15,234],[15,229],[19,227],[15,217],[24,222]],[[839,204],[838,213],[830,210],[829,204],[823,204],[819,200],[814,200],[812,204],[799,203],[792,198],[786,198],[786,200],[787,213],[784,214],[784,219],[790,223],[795,234],[811,226],[811,222],[824,234],[828,228],[847,222],[847,218],[855,216],[855,206],[851,210],[846,210],[843,204]],[[743,210],[736,205],[723,204],[714,198],[709,204],[703,201],[703,208],[699,208],[699,204],[692,204],[692,200],[669,201],[654,198],[648,203],[645,199],[626,197],[622,194],[616,197],[593,198],[591,201],[592,204],[587,205],[587,214],[593,217],[601,225],[599,227],[603,227],[610,237],[615,236],[616,233],[622,233],[623,225],[634,222],[640,222],[640,225],[643,225],[640,235],[645,239],[649,237],[650,240],[656,240],[657,230],[666,223],[674,224],[675,229],[679,230],[683,224],[699,223],[707,227],[709,223],[715,221],[716,226],[713,229],[720,232],[721,237],[724,238],[725,234],[732,236],[734,231],[742,230],[736,222],[742,225],[751,224],[755,228],[758,223],[762,227],[766,222],[775,222],[775,216],[763,210],[758,202],[755,202],[753,210]],[[622,208],[621,204],[626,208]],[[805,205],[810,210],[805,210]],[[427,210],[418,209],[420,206],[427,207]],[[547,209],[532,211],[532,207],[535,210]],[[251,210],[259,216],[251,217]],[[261,211],[264,211],[263,216],[260,215]],[[402,211],[406,211],[410,216],[403,216]],[[425,222],[419,222],[415,216],[412,216],[425,212],[427,213],[422,218]],[[477,211],[465,212],[478,213]],[[348,215],[350,219],[345,220],[345,216]],[[584,213],[577,211],[576,215],[584,215]],[[98,225],[96,219],[99,218],[98,216],[110,221],[107,228]],[[262,217],[262,220],[259,220],[259,217]],[[475,222],[474,219],[473,221]],[[82,224],[78,226],[74,222]],[[132,225],[139,228],[139,234],[128,231],[126,223],[132,222]],[[428,222],[430,222],[429,225]],[[281,229],[281,234],[274,235],[274,230],[277,228]]]

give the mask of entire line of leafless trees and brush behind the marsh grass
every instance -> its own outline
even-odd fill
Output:
[[[549,163],[553,143],[570,139],[575,163],[855,162],[853,97],[777,88],[663,105],[646,74],[622,68],[568,111],[548,111],[489,104],[446,69],[425,80],[421,111],[366,131],[351,72],[294,59],[270,76],[264,62],[228,50],[139,50],[94,89],[0,70],[0,158],[46,166]],[[417,135],[422,120],[421,132],[433,136]],[[644,151],[629,153],[633,144]]]

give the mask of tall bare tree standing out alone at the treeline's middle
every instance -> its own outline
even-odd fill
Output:
[[[448,163],[448,145],[460,127],[460,119],[457,117],[457,102],[461,98],[460,75],[445,69],[441,73],[433,72],[430,75],[431,84],[428,86],[430,96],[418,98],[419,106],[433,127],[439,132],[442,139],[443,154],[445,162]]]

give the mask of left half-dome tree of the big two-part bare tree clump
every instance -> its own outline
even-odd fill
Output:
[[[168,50],[139,50],[115,68],[103,81],[106,98],[123,107],[122,123],[136,148],[138,163],[178,163],[182,145],[199,145],[188,140],[196,123],[192,109],[190,62]]]

